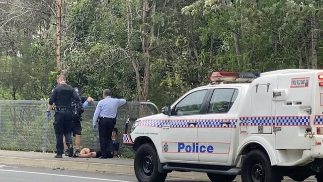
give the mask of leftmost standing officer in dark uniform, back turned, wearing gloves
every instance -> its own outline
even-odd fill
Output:
[[[73,143],[71,138],[70,126],[72,122],[71,98],[80,101],[77,92],[69,85],[66,84],[66,77],[59,75],[57,77],[56,86],[49,98],[47,107],[47,117],[50,118],[53,103],[55,103],[55,121],[53,123],[56,135],[56,149],[57,155],[55,158],[63,158],[64,152],[63,135],[66,138],[66,143],[69,146],[69,157],[73,156]]]

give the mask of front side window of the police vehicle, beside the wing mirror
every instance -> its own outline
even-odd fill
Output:
[[[199,114],[207,90],[195,91],[177,103],[173,115]]]

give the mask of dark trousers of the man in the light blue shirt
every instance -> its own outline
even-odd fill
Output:
[[[116,118],[100,118],[99,138],[102,157],[113,157],[112,131],[116,123]],[[112,156],[111,156],[112,154]]]

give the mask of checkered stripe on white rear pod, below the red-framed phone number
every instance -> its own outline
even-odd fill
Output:
[[[276,126],[307,126],[310,125],[310,116],[277,116]]]

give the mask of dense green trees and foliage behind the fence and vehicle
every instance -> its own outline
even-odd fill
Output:
[[[143,24],[142,0],[65,0],[62,61],[69,84],[95,100],[106,88],[115,97],[137,100],[131,60],[143,80],[150,56],[149,99],[162,107],[208,84],[214,71],[311,69],[313,32],[319,34],[318,66],[323,68],[322,1],[156,2],[156,11]],[[11,17],[10,10],[0,13]],[[45,27],[41,18],[35,18],[28,26],[8,22],[0,29],[0,99],[45,98],[56,85],[56,32],[50,25],[55,19],[42,18]],[[313,20],[318,26],[312,29]],[[143,51],[143,37],[152,40],[149,55]]]

